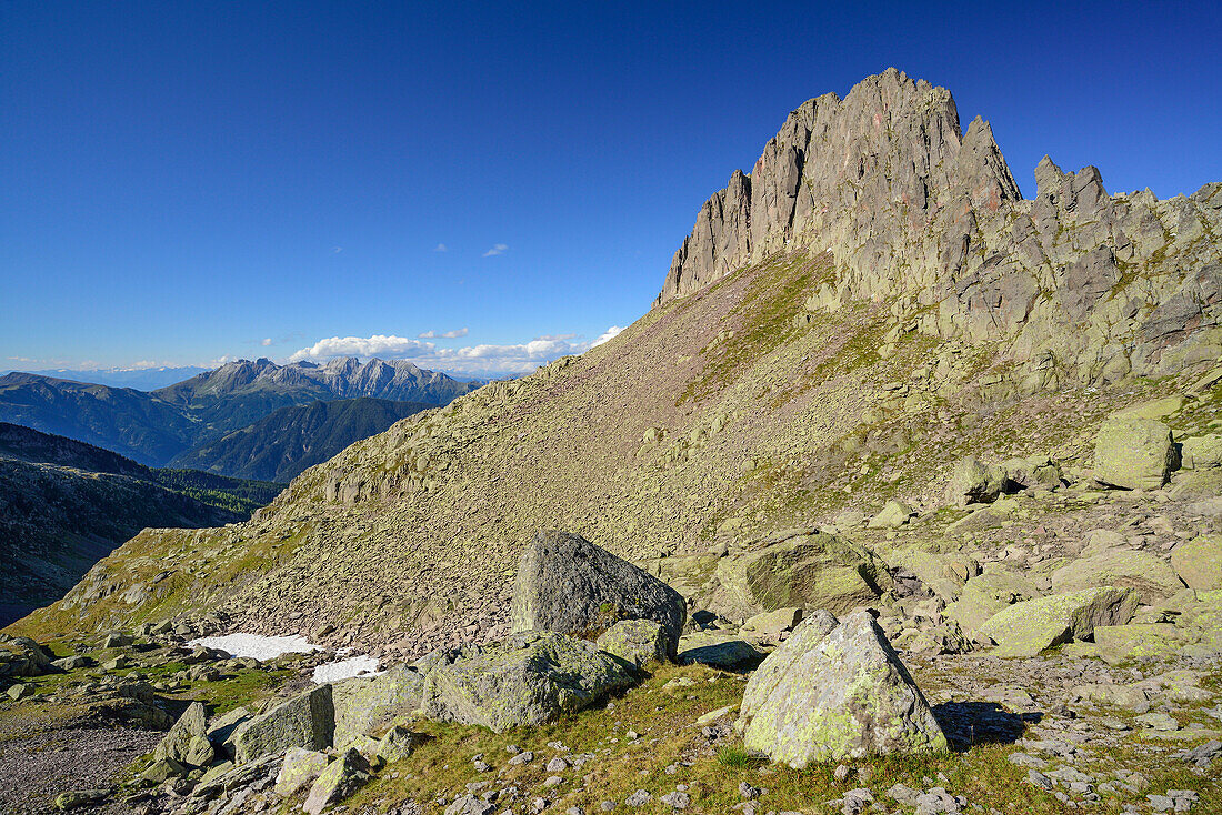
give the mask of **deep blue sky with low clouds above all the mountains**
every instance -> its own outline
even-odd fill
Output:
[[[0,368],[580,349],[789,110],[892,65],[1028,196],[1045,153],[1222,180],[1216,2],[825,5],[0,1]]]

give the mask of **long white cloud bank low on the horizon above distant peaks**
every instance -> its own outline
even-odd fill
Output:
[[[423,340],[466,336],[466,329],[446,334],[425,331],[417,340],[381,334],[370,337],[327,337],[319,340],[309,348],[302,348],[288,360],[325,362],[335,357],[381,357],[382,359],[411,359],[420,368],[455,374],[529,374],[539,365],[545,365],[560,357],[584,353],[595,345],[606,342],[620,331],[622,331],[620,326],[612,326],[594,341],[573,342],[576,335],[562,334],[545,335],[529,342],[481,343],[462,348],[442,348]]]

